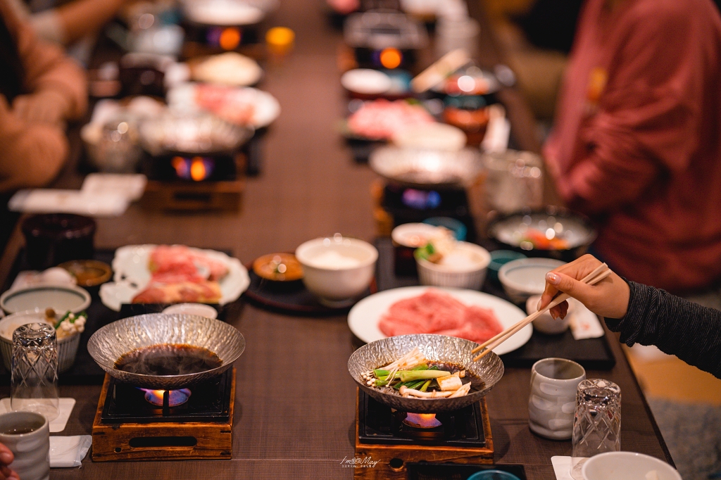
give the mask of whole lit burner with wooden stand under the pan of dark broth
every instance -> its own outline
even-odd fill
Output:
[[[93,461],[231,458],[235,368],[177,391],[105,375],[92,427]]]

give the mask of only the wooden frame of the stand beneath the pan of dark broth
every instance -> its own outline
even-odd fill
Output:
[[[110,375],[100,392],[92,425],[92,460],[210,460],[230,459],[233,453],[235,368],[230,389],[227,422],[102,423],[102,410],[110,387]],[[193,445],[184,445],[184,444]]]

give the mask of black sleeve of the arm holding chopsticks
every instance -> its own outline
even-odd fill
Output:
[[[721,378],[721,311],[665,290],[626,282],[631,289],[626,316],[606,319],[609,329],[621,332],[621,341],[629,347],[655,345]]]

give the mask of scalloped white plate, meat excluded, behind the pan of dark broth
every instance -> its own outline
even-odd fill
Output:
[[[107,308],[120,311],[123,303],[131,303],[133,297],[148,285],[151,278],[148,259],[155,247],[156,245],[152,244],[126,245],[115,250],[115,258],[112,259],[115,281],[100,285],[100,300]],[[218,282],[222,293],[218,301],[220,305],[236,301],[247,290],[250,277],[239,259],[216,250],[189,248],[227,265],[228,275]]]

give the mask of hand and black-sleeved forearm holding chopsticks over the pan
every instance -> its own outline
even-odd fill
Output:
[[[721,311],[696,305],[647,285],[627,282],[615,273],[596,285],[579,280],[601,262],[584,255],[546,275],[539,309],[559,292],[568,293],[590,311],[606,318],[627,345],[656,345],[663,352],[721,378]],[[552,308],[565,316],[566,302]]]

